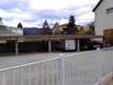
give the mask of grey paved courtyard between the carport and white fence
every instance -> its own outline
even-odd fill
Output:
[[[24,55],[9,55],[9,56],[0,56],[0,70],[5,68],[5,67],[11,67],[11,66],[16,66],[16,65],[22,65],[22,64],[27,64],[32,62],[37,62],[42,60],[47,60],[52,57],[57,57],[57,56],[66,56],[70,54],[76,54],[75,52],[72,53],[34,53],[34,54],[24,54]]]

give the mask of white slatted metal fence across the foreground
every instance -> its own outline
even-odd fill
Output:
[[[92,51],[0,70],[0,85],[94,85],[113,71],[112,51]]]

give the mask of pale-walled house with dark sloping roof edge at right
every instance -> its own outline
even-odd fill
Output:
[[[113,0],[100,0],[92,10],[95,13],[95,34],[103,35],[103,31],[113,29]]]

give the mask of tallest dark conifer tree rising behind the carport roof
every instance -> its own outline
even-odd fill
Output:
[[[66,34],[75,34],[77,32],[77,28],[75,24],[76,20],[74,15],[70,15],[68,26],[66,30]]]

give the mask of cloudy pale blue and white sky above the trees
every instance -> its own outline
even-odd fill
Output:
[[[92,9],[99,0],[0,0],[0,17],[9,26],[42,26],[45,20],[68,23],[75,15],[76,24],[86,25],[94,21]]]

